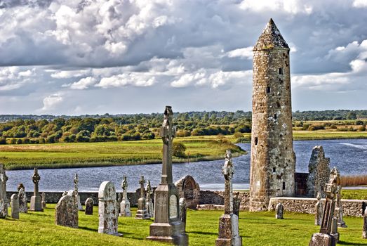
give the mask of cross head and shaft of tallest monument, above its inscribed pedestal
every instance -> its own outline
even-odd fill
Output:
[[[166,106],[164,110],[164,122],[161,126],[160,136],[164,143],[163,145],[163,160],[162,160],[162,176],[161,183],[172,183],[172,143],[176,135],[175,127],[172,122],[172,108]]]

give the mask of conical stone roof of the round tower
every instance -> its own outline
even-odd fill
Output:
[[[286,40],[283,39],[281,33],[276,27],[272,18],[270,18],[267,26],[264,31],[260,35],[258,42],[253,47],[253,51],[267,50],[272,48],[286,48],[289,49],[289,46]]]

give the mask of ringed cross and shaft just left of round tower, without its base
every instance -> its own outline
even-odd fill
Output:
[[[231,150],[225,153],[225,165],[222,167],[222,173],[225,176],[225,214],[233,213],[233,192],[232,192],[232,177],[234,167],[232,164]]]

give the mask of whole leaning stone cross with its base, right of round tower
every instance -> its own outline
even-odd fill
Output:
[[[325,206],[323,207],[323,216],[321,220],[321,228],[319,233],[314,233],[309,246],[335,246],[336,241],[332,233],[332,224],[335,210],[336,191],[340,184],[340,175],[336,167],[331,170],[330,179],[325,184],[324,192],[326,193]]]

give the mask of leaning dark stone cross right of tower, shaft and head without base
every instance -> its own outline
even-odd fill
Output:
[[[336,167],[331,170],[330,179],[325,184],[324,192],[326,193],[325,207],[323,208],[323,216],[321,221],[320,233],[331,233],[335,210],[335,198],[338,186],[340,185],[340,174]]]

